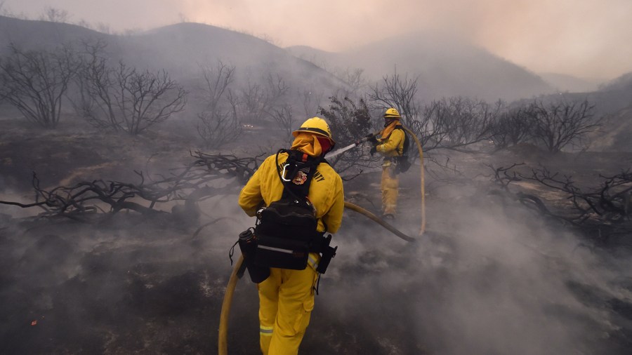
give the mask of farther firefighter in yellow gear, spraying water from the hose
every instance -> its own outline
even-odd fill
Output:
[[[384,156],[382,163],[382,216],[386,219],[393,219],[397,210],[397,194],[400,186],[400,178],[397,175],[397,156],[404,154],[404,141],[406,133],[400,123],[400,112],[391,107],[384,113],[384,129],[381,130],[377,138],[370,135],[369,141],[373,143],[371,156],[376,152]]]

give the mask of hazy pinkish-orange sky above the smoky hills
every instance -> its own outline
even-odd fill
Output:
[[[632,71],[631,0],[0,0],[37,19],[58,8],[70,22],[114,31],[182,20],[264,36],[277,46],[327,51],[416,30],[470,39],[534,72],[612,79]]]

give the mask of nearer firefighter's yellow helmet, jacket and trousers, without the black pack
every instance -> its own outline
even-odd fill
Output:
[[[298,151],[305,158],[324,157],[334,147],[329,125],[319,117],[308,119],[295,130],[290,152]],[[239,194],[239,206],[249,216],[261,207],[281,199],[284,184],[279,171],[289,154],[268,156]],[[277,162],[279,166],[277,166]],[[279,169],[279,170],[277,170]],[[295,181],[298,180],[298,181]],[[344,195],[343,182],[326,162],[317,163],[310,180],[308,200],[315,207],[317,231],[335,233],[341,225]],[[303,183],[294,179],[292,183]],[[302,270],[270,267],[270,276],[257,283],[259,294],[259,344],[263,354],[298,354],[305,329],[314,307],[316,271],[320,255],[309,253],[308,267]]]

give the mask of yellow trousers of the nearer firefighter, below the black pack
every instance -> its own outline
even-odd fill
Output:
[[[320,256],[310,253],[304,270],[270,268],[258,283],[259,345],[264,355],[298,354],[314,309],[315,266]]]

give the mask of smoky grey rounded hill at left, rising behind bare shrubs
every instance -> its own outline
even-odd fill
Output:
[[[298,84],[309,84],[331,92],[343,85],[324,69],[267,41],[211,25],[178,23],[140,34],[112,35],[66,23],[0,16],[0,55],[7,53],[11,42],[31,49],[95,39],[108,43],[112,60],[124,60],[140,68],[166,69],[180,81],[199,77],[199,65],[214,67],[222,60],[225,65],[234,65],[235,73],[244,81],[256,81],[272,73],[294,89]]]

